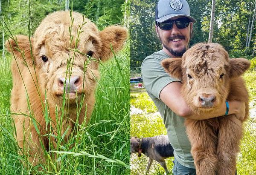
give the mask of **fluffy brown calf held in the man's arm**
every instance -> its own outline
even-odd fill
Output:
[[[242,138],[242,123],[248,117],[248,93],[240,75],[250,61],[229,59],[219,44],[195,44],[181,58],[163,60],[163,67],[182,80],[181,93],[198,115],[214,111],[226,100],[245,102],[244,118],[227,115],[208,120],[186,119],[197,175],[234,175]]]

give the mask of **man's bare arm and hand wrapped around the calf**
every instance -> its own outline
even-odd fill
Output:
[[[216,111],[209,112],[206,115],[195,115],[187,106],[185,100],[183,99],[181,92],[181,83],[178,81],[169,83],[160,92],[160,99],[165,103],[173,112],[177,115],[190,118],[195,120],[204,120],[209,118],[215,118],[223,116],[226,113],[226,103],[223,103]],[[228,101],[230,114],[235,114],[237,118],[243,118],[245,115],[245,104],[241,101]]]

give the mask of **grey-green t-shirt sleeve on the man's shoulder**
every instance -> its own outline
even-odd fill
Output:
[[[141,66],[142,78],[148,93],[160,100],[160,92],[171,82],[180,81],[171,77],[161,65],[160,58],[146,58]]]

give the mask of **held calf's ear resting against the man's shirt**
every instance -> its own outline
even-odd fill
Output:
[[[172,77],[182,79],[181,58],[167,58],[161,64]]]

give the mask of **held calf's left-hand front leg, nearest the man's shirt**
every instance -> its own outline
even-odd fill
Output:
[[[217,136],[211,121],[186,119],[186,133],[191,143],[197,175],[215,175],[218,158]]]

